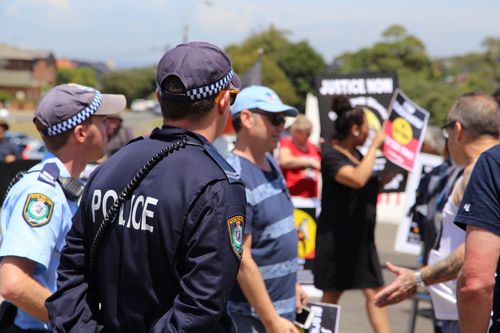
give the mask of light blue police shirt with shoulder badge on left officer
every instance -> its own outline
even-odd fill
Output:
[[[47,164],[52,165],[47,166]],[[9,191],[0,214],[0,257],[16,256],[36,263],[33,277],[51,292],[56,290],[57,267],[71,218],[78,207],[68,201],[56,179],[44,170],[70,174],[62,162],[46,152]],[[41,172],[42,171],[42,172]],[[22,329],[48,330],[49,325],[18,309],[15,324]]]

